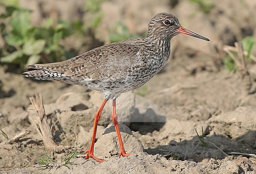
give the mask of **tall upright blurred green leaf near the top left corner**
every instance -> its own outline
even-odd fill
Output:
[[[30,11],[26,9],[15,10],[9,24],[13,28],[11,33],[21,38],[26,38],[28,30],[30,29]]]

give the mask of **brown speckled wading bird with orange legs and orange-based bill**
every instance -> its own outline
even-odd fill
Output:
[[[158,13],[150,20],[148,34],[143,38],[106,44],[62,62],[28,65],[23,74],[37,80],[80,85],[104,94],[104,100],[95,114],[91,145],[85,151],[85,159],[104,161],[94,155],[94,144],[100,114],[107,101],[112,100],[111,118],[120,156],[129,156],[119,130],[116,100],[122,93],[144,85],[165,66],[171,53],[171,39],[180,33],[210,41],[182,27],[173,14]]]

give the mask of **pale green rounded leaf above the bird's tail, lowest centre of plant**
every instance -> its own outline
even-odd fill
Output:
[[[39,54],[43,51],[45,44],[46,42],[44,39],[32,39],[28,42],[25,42],[25,44],[22,47],[22,51],[26,55]]]

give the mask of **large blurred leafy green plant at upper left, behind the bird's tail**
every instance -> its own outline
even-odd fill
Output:
[[[6,13],[1,18],[8,20],[0,29],[4,38],[4,47],[0,51],[1,63],[16,63],[23,69],[27,64],[38,62],[56,62],[67,59],[60,40],[72,34],[71,24],[58,20],[54,24],[48,18],[45,25],[32,26],[31,11],[6,5]],[[11,30],[9,29],[11,28]]]

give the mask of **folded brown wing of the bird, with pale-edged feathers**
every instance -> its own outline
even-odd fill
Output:
[[[142,53],[143,50],[137,45],[121,41],[103,45],[63,62],[28,65],[28,68],[61,72],[71,78],[113,82],[124,80],[129,69],[138,66]]]

